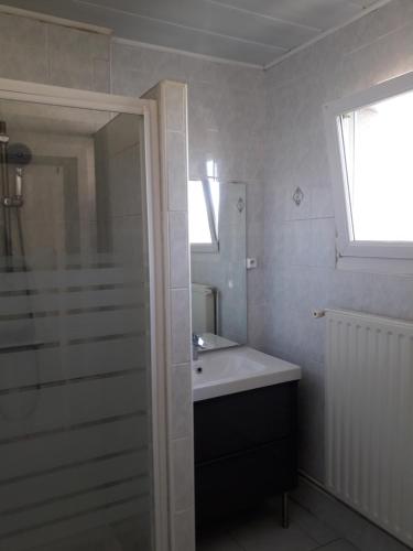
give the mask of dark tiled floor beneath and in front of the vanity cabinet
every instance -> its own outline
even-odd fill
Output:
[[[316,517],[291,503],[291,526],[280,525],[280,510],[269,506],[224,527],[203,531],[196,551],[357,551]]]

